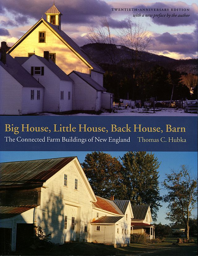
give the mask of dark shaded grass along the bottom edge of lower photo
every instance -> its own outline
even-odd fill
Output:
[[[14,255],[197,255],[197,245],[172,244],[171,242],[159,244],[130,244],[127,247],[114,248],[110,245],[97,243],[67,243],[53,245],[45,249],[24,249]]]

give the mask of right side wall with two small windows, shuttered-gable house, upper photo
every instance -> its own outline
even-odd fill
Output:
[[[72,91],[73,91],[73,82],[70,81],[60,81],[60,91],[64,91],[63,100],[60,98],[60,112],[72,110]],[[70,99],[69,93],[70,92]],[[60,95],[60,94],[59,94]]]

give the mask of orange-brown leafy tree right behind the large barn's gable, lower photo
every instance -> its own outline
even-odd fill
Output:
[[[122,165],[116,157],[104,152],[87,154],[82,167],[97,196],[110,199],[125,199],[126,187],[123,184]]]

